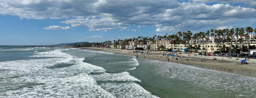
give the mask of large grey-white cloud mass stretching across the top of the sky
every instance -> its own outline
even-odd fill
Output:
[[[255,0],[181,1],[186,0],[0,0],[0,15],[65,19],[60,23],[88,27],[89,31],[126,30],[131,25],[143,25],[155,26],[157,32],[217,28],[232,25],[233,19],[248,21],[256,17]]]

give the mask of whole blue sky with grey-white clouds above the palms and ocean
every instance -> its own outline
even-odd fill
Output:
[[[0,0],[0,45],[256,28],[255,0]]]

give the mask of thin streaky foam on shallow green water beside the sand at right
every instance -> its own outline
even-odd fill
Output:
[[[193,87],[205,89],[205,91],[213,89],[214,91],[236,93],[237,96],[244,96],[246,94],[256,96],[256,78],[177,63],[166,63],[155,60],[148,60],[146,63],[156,66],[155,72],[163,77],[183,81]],[[171,68],[171,71],[168,70],[169,68]]]

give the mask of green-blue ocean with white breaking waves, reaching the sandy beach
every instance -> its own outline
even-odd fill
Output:
[[[256,97],[256,78],[233,73],[78,48],[0,48],[0,98]]]

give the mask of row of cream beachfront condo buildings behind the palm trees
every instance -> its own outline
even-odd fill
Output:
[[[255,35],[250,39],[242,38],[242,41],[238,41],[240,36],[233,36],[231,41],[227,41],[227,37],[203,37],[203,38],[191,38],[189,40],[184,40],[183,42],[177,42],[174,40],[156,40],[154,42],[129,42],[125,46],[117,46],[116,48],[134,49],[136,47],[144,48],[145,50],[175,50],[182,51],[186,49],[193,52],[206,52],[213,53],[216,51],[222,52],[236,52],[249,51],[249,45],[256,45]]]

